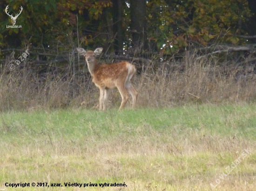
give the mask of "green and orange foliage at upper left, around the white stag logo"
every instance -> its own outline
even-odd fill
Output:
[[[54,40],[63,40],[67,34],[76,30],[76,15],[81,32],[81,29],[91,25],[94,20],[100,19],[104,7],[111,6],[110,1],[93,0],[6,0],[6,4],[9,5],[8,12],[13,15],[19,12],[20,6],[23,7],[16,22],[16,25],[22,25],[22,28],[7,28],[6,25],[11,25],[10,19],[7,14],[0,13],[4,18],[3,25],[0,26],[1,34],[4,34],[3,38],[0,37],[2,48],[8,45],[4,37],[11,36],[13,32],[19,34],[22,44],[29,41],[34,46],[40,46],[42,43],[52,46]],[[88,10],[89,21],[83,16],[85,10]],[[90,36],[85,37],[85,41],[88,38]]]

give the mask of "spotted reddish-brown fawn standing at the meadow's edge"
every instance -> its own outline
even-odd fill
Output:
[[[129,96],[133,98],[132,108],[135,108],[138,92],[131,84],[131,79],[136,73],[135,66],[128,62],[116,64],[101,64],[95,56],[101,54],[103,48],[97,48],[95,51],[86,51],[83,48],[76,48],[79,54],[85,56],[90,74],[93,77],[93,83],[100,89],[100,110],[106,109],[110,89],[117,88],[121,94],[122,102],[119,110],[127,103]]]

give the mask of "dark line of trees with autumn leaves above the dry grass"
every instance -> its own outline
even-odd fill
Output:
[[[17,19],[22,28],[6,27],[7,5],[13,15],[23,7]],[[79,40],[81,46],[122,55],[256,42],[254,0],[2,0],[0,9],[1,49],[31,43],[67,51]]]

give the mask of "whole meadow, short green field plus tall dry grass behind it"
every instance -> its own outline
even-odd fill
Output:
[[[229,56],[146,63],[136,109],[121,112],[118,91],[95,109],[99,89],[75,59],[62,72],[1,67],[0,191],[253,191],[256,75]]]

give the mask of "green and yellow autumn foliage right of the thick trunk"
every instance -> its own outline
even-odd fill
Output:
[[[246,33],[239,24],[250,16],[246,0],[150,0],[147,6],[149,39],[164,51],[189,42],[206,46],[220,36],[222,42],[244,43],[234,35]]]

